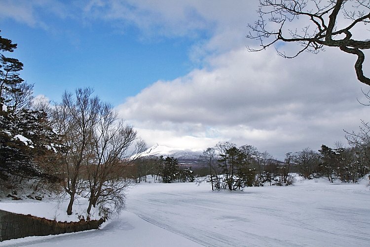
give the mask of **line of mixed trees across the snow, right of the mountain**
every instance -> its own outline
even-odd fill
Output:
[[[348,133],[350,147],[337,142],[333,148],[322,145],[318,151],[305,148],[287,153],[283,162],[252,145],[236,147],[234,143],[219,142],[201,156],[209,167],[206,181],[212,190],[233,191],[266,184],[291,185],[291,173],[296,172],[305,179],[325,177],[331,183],[335,179],[356,183],[370,171],[369,129],[364,124],[360,133]]]

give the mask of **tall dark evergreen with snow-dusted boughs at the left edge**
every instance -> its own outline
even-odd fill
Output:
[[[0,175],[50,178],[36,158],[55,153],[57,135],[46,113],[31,108],[33,85],[23,82],[18,73],[23,64],[3,55],[16,47],[0,36]]]

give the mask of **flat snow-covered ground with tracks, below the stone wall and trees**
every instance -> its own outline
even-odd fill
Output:
[[[211,192],[195,183],[139,184],[102,230],[0,246],[370,246],[370,187],[314,180]]]

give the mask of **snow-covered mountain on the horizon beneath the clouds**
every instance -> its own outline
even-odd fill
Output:
[[[145,156],[163,156],[177,158],[180,164],[197,165],[199,164],[199,157],[202,155],[204,149],[190,149],[190,148],[171,148],[156,143],[154,146],[148,148],[140,154],[141,157]]]

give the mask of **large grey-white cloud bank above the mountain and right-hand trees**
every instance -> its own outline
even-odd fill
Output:
[[[334,49],[289,60],[241,47],[209,58],[208,69],[155,82],[117,109],[149,144],[207,147],[230,140],[282,158],[343,141],[343,128],[357,129],[369,115],[356,100],[364,85],[353,60]]]

